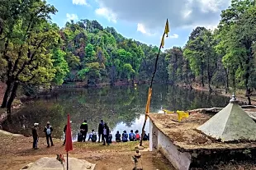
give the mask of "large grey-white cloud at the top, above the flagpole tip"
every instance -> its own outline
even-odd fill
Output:
[[[111,11],[111,15],[115,16],[116,19],[140,23],[140,28],[138,26],[138,29],[141,32],[149,32],[151,34],[163,30],[166,18],[168,18],[172,29],[195,25],[216,25],[216,22],[220,21],[220,11],[227,8],[230,5],[230,1],[97,0],[100,7],[107,9],[106,11]]]

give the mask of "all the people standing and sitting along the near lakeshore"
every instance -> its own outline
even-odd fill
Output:
[[[33,136],[33,149],[38,149],[37,143],[38,143],[38,123],[34,123],[34,126],[32,127],[32,136]],[[65,145],[65,133],[67,130],[67,125],[64,126],[64,144]],[[54,131],[53,127],[50,126],[50,122],[46,123],[46,126],[44,128],[44,133],[47,141],[47,147],[49,148],[50,145],[53,146],[53,140],[52,140],[52,132]],[[80,126],[80,131],[78,133],[78,142],[85,142],[88,135],[88,123],[87,120],[84,120],[84,122]],[[104,122],[101,120],[101,122],[98,125],[97,132],[92,129],[92,131],[88,135],[88,141],[92,142],[102,142],[103,145],[110,145],[112,143],[112,134],[107,126],[107,122]],[[128,134],[127,131],[123,131],[122,134],[119,131],[116,131],[115,135],[116,142],[128,142],[128,141],[138,141],[141,140],[141,136],[138,130],[134,131],[130,130],[130,133]],[[142,137],[142,140],[149,140],[149,134],[146,135],[144,133],[144,136]]]

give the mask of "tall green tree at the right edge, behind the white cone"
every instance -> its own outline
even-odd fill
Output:
[[[254,41],[255,34],[255,2],[252,0],[233,0],[231,7],[222,11],[220,34],[222,42],[220,48],[225,47],[223,62],[233,70],[235,78],[242,82],[246,89],[249,104],[252,84],[254,80]],[[241,84],[240,84],[241,85]]]

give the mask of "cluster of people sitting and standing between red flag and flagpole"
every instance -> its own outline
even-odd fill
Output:
[[[78,142],[85,142],[86,136],[88,133],[88,124],[87,121],[84,120],[82,125],[80,126],[80,132],[78,133]],[[89,134],[88,141],[92,140],[92,142],[97,141],[97,135],[98,135],[98,142],[101,142],[100,140],[102,139],[103,145],[110,145],[112,142],[112,135],[111,131],[109,130],[109,127],[107,126],[106,122],[101,122],[99,123],[98,126],[98,134],[92,129],[92,132]],[[130,130],[130,133],[127,134],[126,131],[123,131],[122,134],[119,133],[119,131],[116,131],[116,142],[127,142],[127,141],[136,141],[140,140],[140,134],[139,131],[136,130],[135,133],[133,130]],[[149,140],[149,134],[143,136],[143,140]]]

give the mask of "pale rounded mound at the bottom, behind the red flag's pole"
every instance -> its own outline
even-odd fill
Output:
[[[66,160],[66,158],[64,158]],[[56,158],[44,157],[38,159],[35,163],[29,163],[24,168],[26,170],[63,170],[67,169],[67,163],[63,165]],[[69,170],[93,170],[96,164],[89,163],[86,160],[69,158]]]

